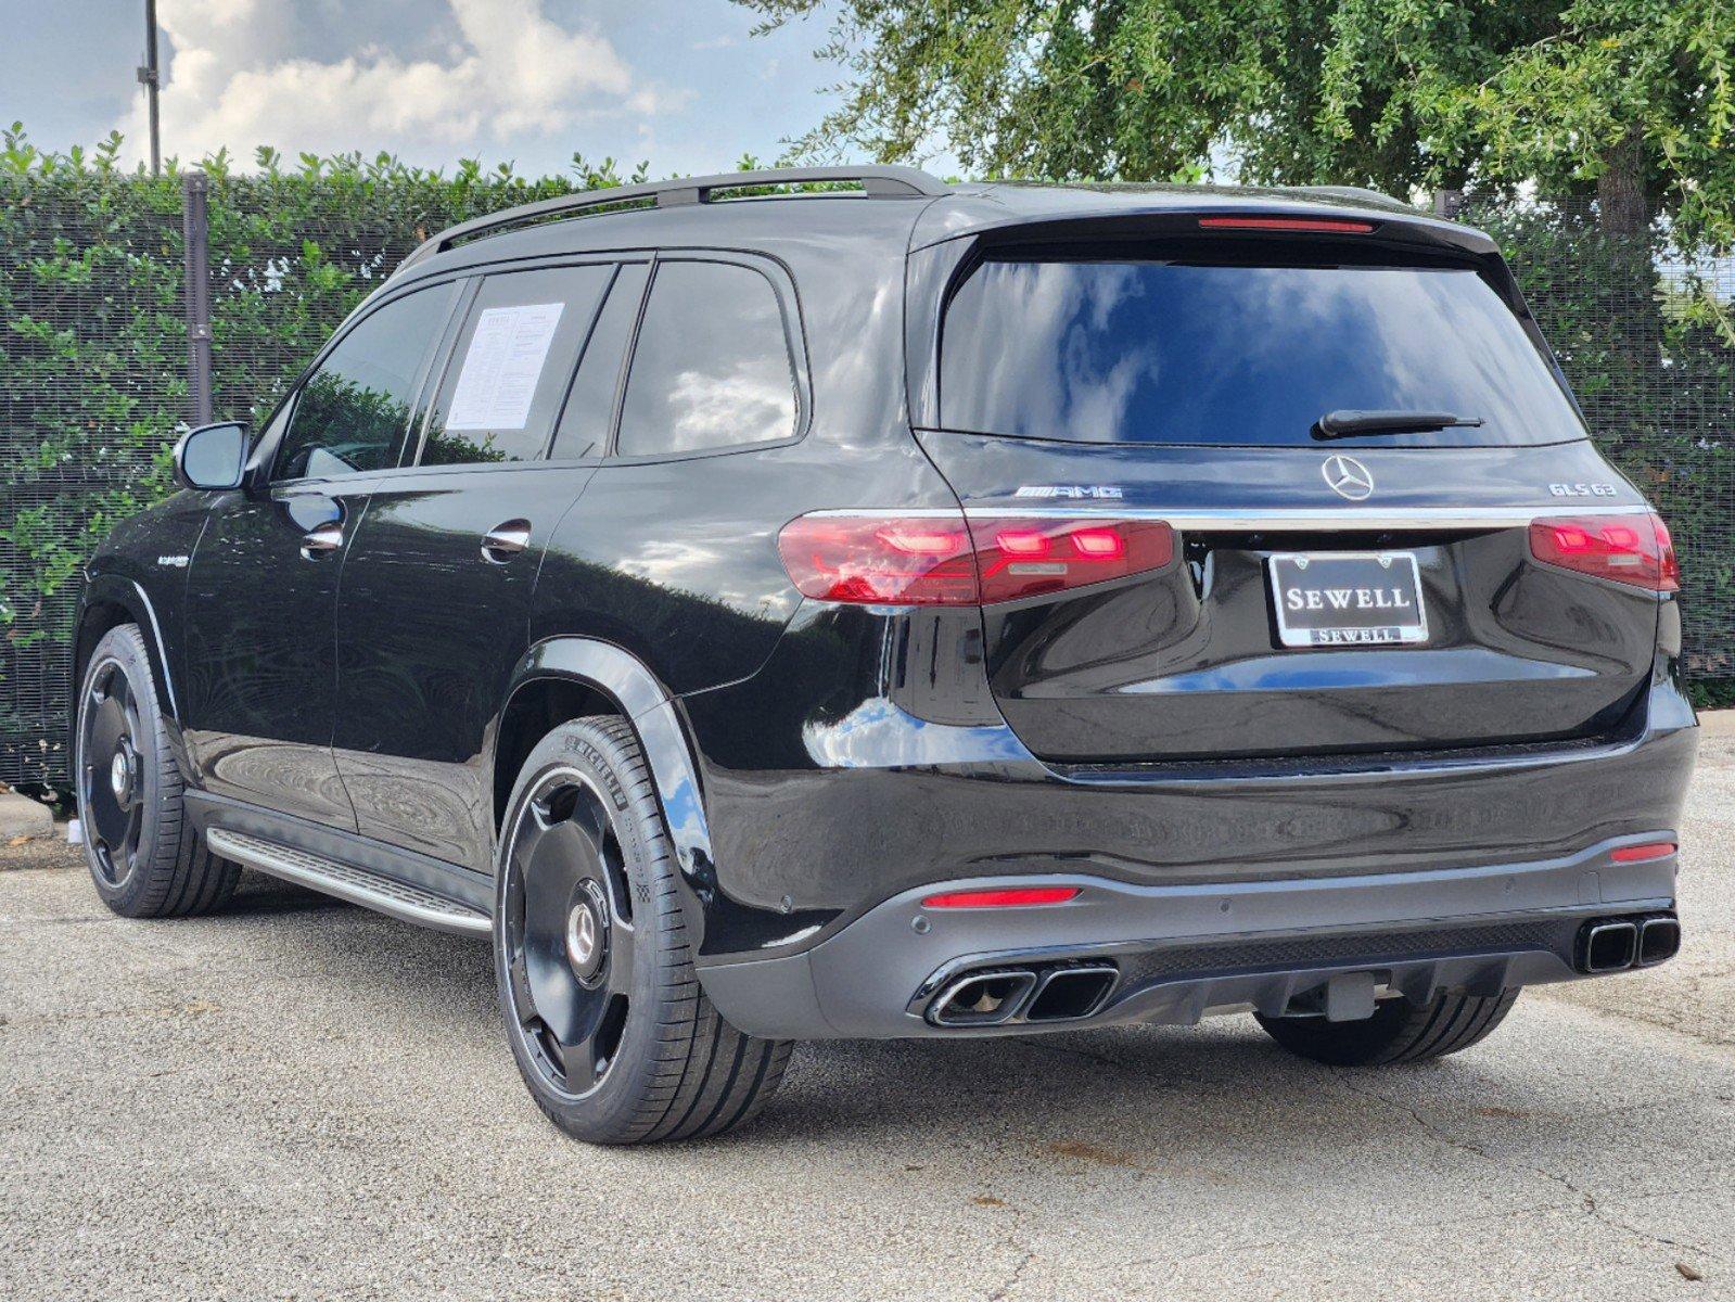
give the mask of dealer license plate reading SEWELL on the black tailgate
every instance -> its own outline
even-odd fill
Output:
[[[1280,552],[1267,564],[1284,646],[1428,641],[1412,552]]]

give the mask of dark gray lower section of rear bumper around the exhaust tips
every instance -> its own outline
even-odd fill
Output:
[[[1372,974],[1411,998],[1497,993],[1579,976],[1584,924],[1674,908],[1676,856],[1617,863],[1619,837],[1525,863],[1324,880],[1129,885],[1095,875],[985,877],[966,885],[1064,884],[1065,904],[923,910],[902,891],[802,953],[701,969],[743,1031],[777,1038],[1027,1035],[1119,1023],[1199,1021],[1216,1009],[1293,1010],[1334,976]],[[1667,833],[1673,835],[1673,833]],[[933,996],[977,969],[1112,967],[1084,1017],[946,1028]]]

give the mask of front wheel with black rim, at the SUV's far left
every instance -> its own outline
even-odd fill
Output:
[[[182,776],[137,625],[109,628],[78,687],[73,781],[85,865],[123,918],[208,913],[239,866],[205,849],[182,806]]]

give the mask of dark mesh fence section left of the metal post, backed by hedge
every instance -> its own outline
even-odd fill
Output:
[[[161,444],[186,408],[180,205],[174,191],[149,198],[0,191],[0,781],[12,785],[66,778],[78,566],[163,484]]]

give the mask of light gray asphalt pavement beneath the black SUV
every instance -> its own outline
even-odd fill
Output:
[[[111,917],[0,847],[0,1299],[1735,1299],[1735,738],[1683,955],[1476,1049],[1329,1069],[1251,1017],[796,1050],[736,1135],[531,1104],[488,948],[250,877]]]

